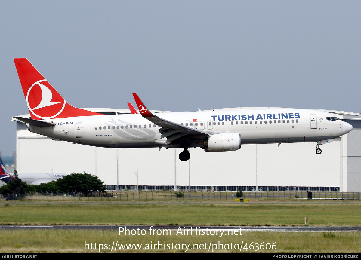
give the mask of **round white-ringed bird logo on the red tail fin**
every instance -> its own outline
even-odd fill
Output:
[[[50,119],[63,111],[66,101],[43,79],[31,85],[26,94],[26,103],[32,114],[38,118]]]

